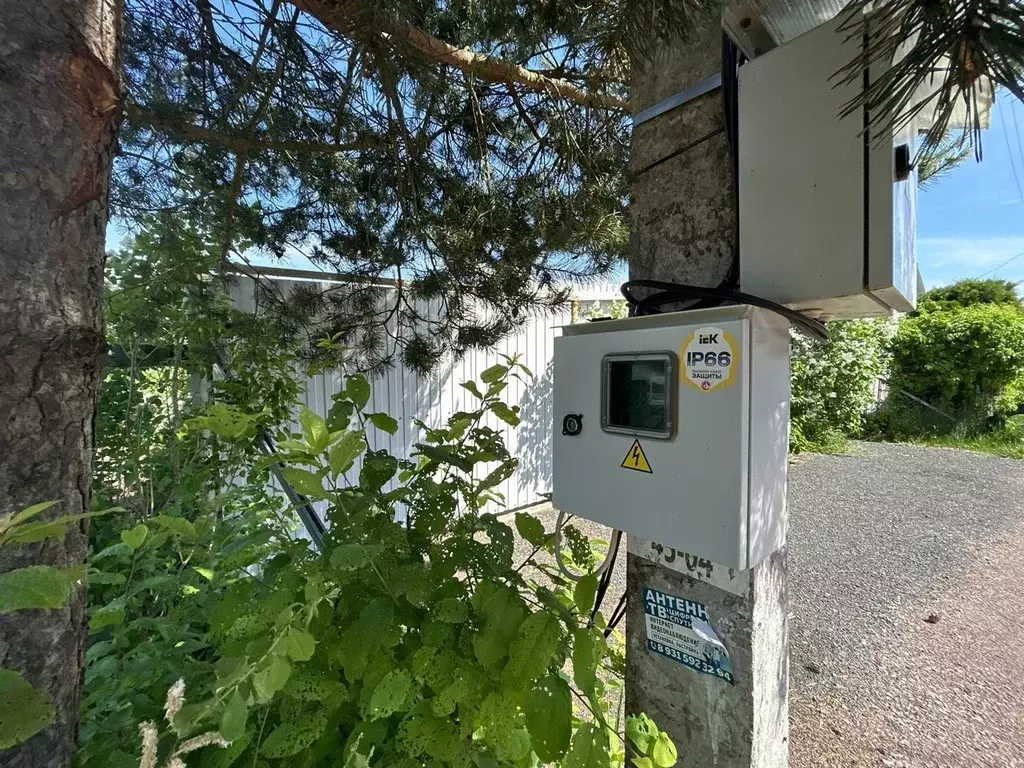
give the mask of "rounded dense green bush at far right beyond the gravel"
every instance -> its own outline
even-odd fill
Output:
[[[924,311],[902,321],[892,353],[894,396],[906,390],[981,429],[1024,371],[1024,312],[1016,304]]]

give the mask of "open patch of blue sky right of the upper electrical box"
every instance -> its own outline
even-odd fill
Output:
[[[1024,104],[998,94],[982,147],[981,163],[969,160],[919,191],[918,261],[928,288],[1024,254]],[[1024,281],[1024,255],[985,276]]]

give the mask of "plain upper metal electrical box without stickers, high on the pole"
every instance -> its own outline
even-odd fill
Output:
[[[739,266],[746,293],[824,318],[916,303],[915,129],[840,119],[861,40],[846,14],[739,69]]]

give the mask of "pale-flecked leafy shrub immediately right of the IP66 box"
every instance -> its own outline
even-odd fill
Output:
[[[791,447],[798,453],[838,450],[859,435],[876,401],[876,382],[887,370],[892,322],[838,322],[828,330],[831,341],[825,344],[793,335]]]

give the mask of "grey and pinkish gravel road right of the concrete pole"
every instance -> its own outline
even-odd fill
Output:
[[[1024,463],[805,456],[790,519],[791,766],[1024,768]]]

